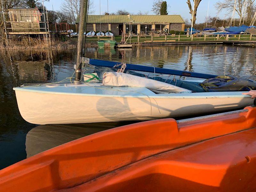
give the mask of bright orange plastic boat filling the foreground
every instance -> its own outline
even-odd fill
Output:
[[[0,191],[255,191],[256,108],[113,128],[0,171]]]

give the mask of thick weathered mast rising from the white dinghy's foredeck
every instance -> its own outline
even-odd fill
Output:
[[[88,0],[81,0],[80,4],[80,15],[79,15],[79,28],[77,38],[77,49],[76,49],[76,81],[81,79],[81,57],[83,56],[83,43],[84,43],[84,29],[87,15]]]

